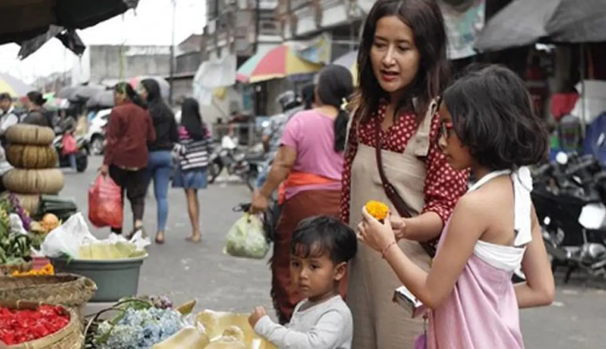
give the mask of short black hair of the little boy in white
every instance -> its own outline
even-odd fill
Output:
[[[353,229],[328,216],[305,218],[290,241],[291,255],[303,258],[328,255],[335,264],[350,261],[357,251],[358,239]]]

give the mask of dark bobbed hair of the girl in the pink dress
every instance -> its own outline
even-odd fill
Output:
[[[524,81],[508,68],[474,65],[442,98],[454,132],[479,165],[513,169],[547,157],[547,131]]]

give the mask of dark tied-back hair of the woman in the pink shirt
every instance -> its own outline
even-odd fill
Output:
[[[318,76],[318,99],[325,105],[337,108],[339,114],[335,118],[335,151],[345,150],[347,138],[348,111],[342,105],[348,102],[353,94],[353,79],[350,71],[341,65],[329,64],[322,68]]]

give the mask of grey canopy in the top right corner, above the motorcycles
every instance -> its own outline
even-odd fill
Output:
[[[475,47],[498,51],[553,42],[606,41],[604,0],[514,0],[488,21]]]

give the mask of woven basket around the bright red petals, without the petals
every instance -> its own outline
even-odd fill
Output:
[[[36,309],[40,302],[0,302],[0,306],[13,309]],[[70,316],[70,322],[61,330],[35,341],[25,342],[18,345],[4,345],[0,342],[0,349],[81,349],[84,344],[84,336],[80,328],[76,313],[65,308]]]

